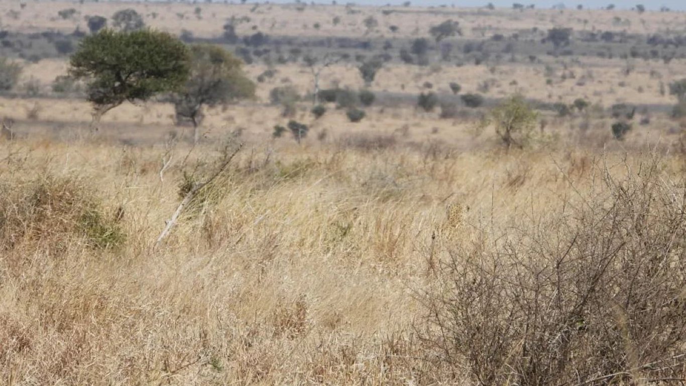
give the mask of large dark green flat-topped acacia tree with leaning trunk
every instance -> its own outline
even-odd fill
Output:
[[[189,60],[188,48],[166,32],[105,29],[83,39],[71,56],[69,75],[86,80],[95,131],[102,115],[123,102],[145,101],[182,87]]]

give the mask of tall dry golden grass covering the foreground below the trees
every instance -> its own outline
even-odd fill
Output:
[[[584,234],[583,218],[567,224],[559,216],[580,194],[613,192],[598,188],[598,163],[617,163],[607,175],[622,180],[637,170],[619,166],[650,159],[394,144],[246,146],[155,246],[185,176],[204,179],[220,149],[186,157],[183,146],[170,154],[31,140],[0,149],[0,379],[7,385],[484,380],[464,352],[436,338],[441,325],[427,319],[433,308],[418,294],[443,288],[452,299],[451,287],[439,284],[451,277],[445,267],[458,264],[455,251],[497,256],[506,239],[495,236],[513,221]],[[165,154],[173,161],[161,181]],[[665,157],[654,173],[683,186],[683,156]],[[469,211],[450,240],[436,238],[450,203]],[[644,204],[637,213],[676,213]],[[637,223],[627,210],[624,221]],[[604,240],[591,229],[584,235]],[[534,244],[523,247],[527,262],[543,264]],[[635,247],[643,248],[640,240]]]

